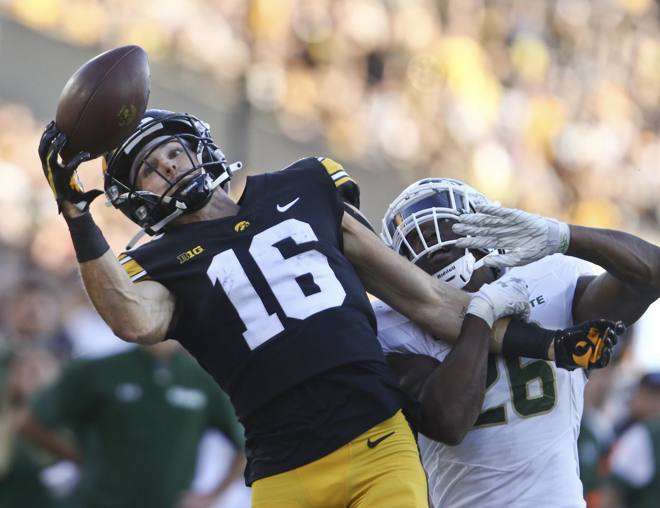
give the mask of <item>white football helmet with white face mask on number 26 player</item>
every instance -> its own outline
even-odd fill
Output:
[[[455,219],[463,213],[475,213],[475,204],[478,203],[492,204],[486,196],[458,180],[424,178],[409,186],[389,205],[383,217],[383,232],[380,236],[389,248],[414,263],[425,254],[456,243],[456,240],[442,240],[438,219]],[[420,225],[427,221],[434,221],[438,238],[438,242],[430,245],[426,243],[420,229]],[[414,250],[406,238],[414,229],[422,242],[419,252]],[[492,249],[481,250],[486,254],[492,252]],[[475,256],[466,248],[463,256],[434,273],[434,277],[461,289],[470,281],[474,270],[482,265],[482,260],[475,262]],[[498,277],[503,274],[498,273]]]

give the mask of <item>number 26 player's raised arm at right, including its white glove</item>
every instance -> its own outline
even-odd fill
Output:
[[[486,266],[522,266],[561,252],[602,266],[607,273],[581,277],[573,301],[576,322],[608,318],[634,323],[660,297],[660,248],[611,229],[561,223],[523,210],[476,205],[479,213],[459,217],[453,231],[460,248],[504,248]]]

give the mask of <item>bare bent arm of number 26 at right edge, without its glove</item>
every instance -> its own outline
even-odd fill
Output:
[[[573,318],[597,317],[630,326],[660,297],[660,248],[628,233],[570,226],[566,254],[602,266],[607,272],[580,277]]]

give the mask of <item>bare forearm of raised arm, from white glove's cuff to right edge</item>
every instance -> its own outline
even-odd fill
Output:
[[[602,266],[619,281],[660,288],[660,248],[622,231],[570,226],[567,256]]]

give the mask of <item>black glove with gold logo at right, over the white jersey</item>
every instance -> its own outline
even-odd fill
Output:
[[[576,326],[557,330],[554,334],[554,363],[573,371],[603,369],[612,359],[612,348],[618,336],[626,331],[623,322],[592,319]]]

